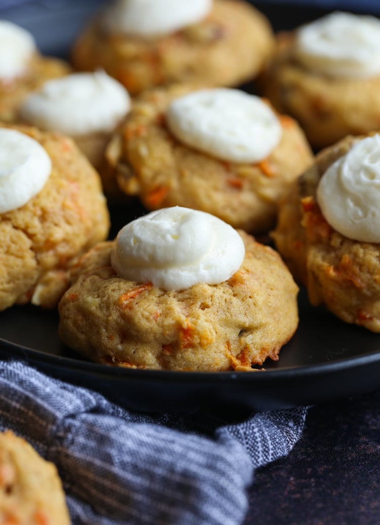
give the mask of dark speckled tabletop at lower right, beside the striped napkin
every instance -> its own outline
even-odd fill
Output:
[[[288,457],[256,471],[244,525],[378,525],[380,391],[309,409]]]

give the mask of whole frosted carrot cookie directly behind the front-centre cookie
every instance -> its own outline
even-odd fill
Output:
[[[297,122],[258,97],[176,85],[135,101],[106,158],[107,176],[149,210],[201,209],[257,233],[312,154]]]

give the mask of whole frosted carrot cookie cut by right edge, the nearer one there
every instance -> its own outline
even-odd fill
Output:
[[[310,302],[380,332],[380,135],[323,150],[280,206],[273,238]]]

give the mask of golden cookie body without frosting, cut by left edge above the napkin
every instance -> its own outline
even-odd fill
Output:
[[[71,139],[12,129],[45,148],[52,171],[38,195],[0,217],[0,310],[27,302],[52,308],[69,285],[75,257],[107,238],[109,213],[98,173]]]

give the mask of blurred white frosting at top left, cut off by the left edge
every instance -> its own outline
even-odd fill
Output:
[[[36,52],[33,36],[22,27],[0,20],[0,78],[13,79],[24,75],[28,62]]]

